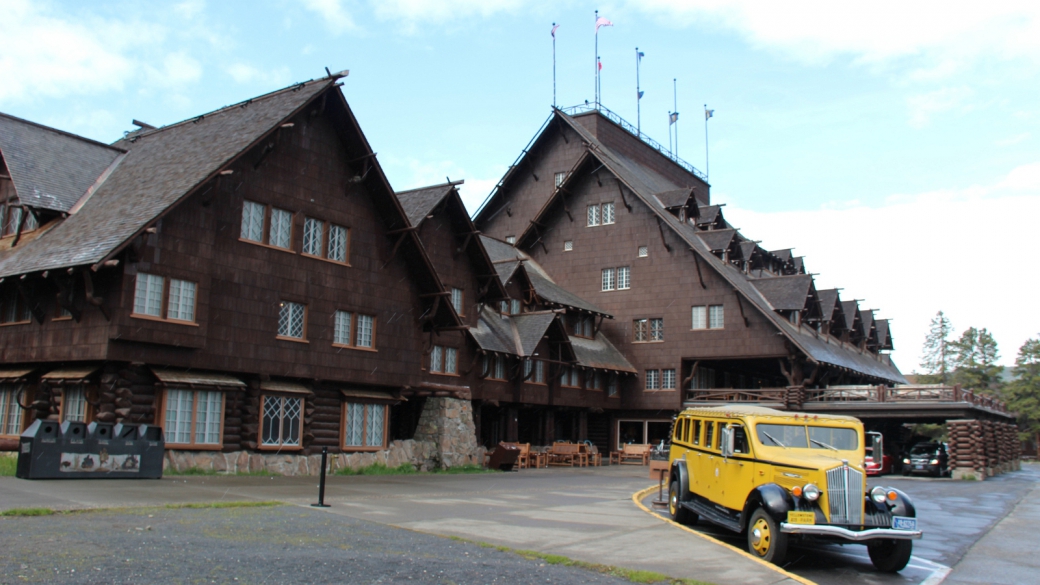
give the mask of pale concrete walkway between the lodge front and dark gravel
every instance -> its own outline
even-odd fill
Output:
[[[331,477],[340,514],[411,530],[710,583],[794,584],[783,573],[639,509],[646,467],[525,469],[469,476]],[[0,510],[316,501],[315,478],[166,477],[159,481],[0,478]]]

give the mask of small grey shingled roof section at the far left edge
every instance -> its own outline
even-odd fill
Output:
[[[20,203],[69,211],[123,151],[0,113],[0,153]]]

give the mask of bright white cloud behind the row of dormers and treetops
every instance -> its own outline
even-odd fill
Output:
[[[1005,364],[1040,334],[1040,324],[1022,316],[1036,288],[1028,257],[1040,217],[1040,162],[991,185],[895,195],[874,207],[725,212],[763,247],[795,247],[806,256],[807,269],[820,273],[817,288],[843,287],[843,299],[864,299],[862,308],[892,319],[893,358],[904,372],[918,367],[928,324],[940,309],[958,334],[993,331]]]

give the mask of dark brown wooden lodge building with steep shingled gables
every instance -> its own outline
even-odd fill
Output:
[[[428,468],[905,382],[887,322],[605,109],[554,110],[471,220],[458,183],[394,193],[343,76],[112,145],[0,113],[0,450],[133,423],[179,468]]]

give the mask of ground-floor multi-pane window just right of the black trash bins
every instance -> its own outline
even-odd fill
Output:
[[[166,444],[219,446],[224,392],[166,390]]]

